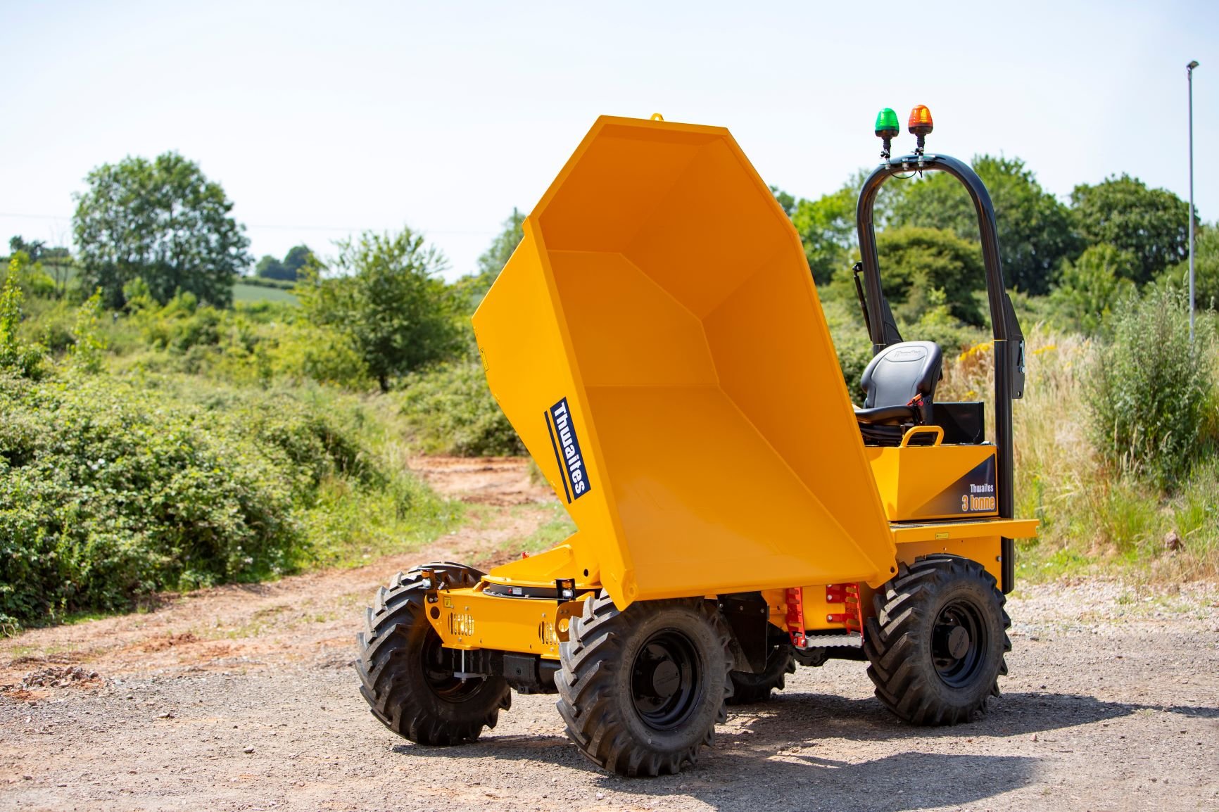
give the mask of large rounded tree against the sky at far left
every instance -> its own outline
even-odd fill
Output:
[[[119,307],[123,285],[143,277],[162,304],[179,290],[205,304],[232,304],[250,241],[224,190],[197,165],[177,152],[127,157],[87,180],[73,217],[87,290],[101,288],[105,302]]]

